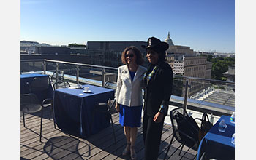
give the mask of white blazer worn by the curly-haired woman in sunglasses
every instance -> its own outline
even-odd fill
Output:
[[[121,105],[138,106],[143,104],[142,88],[143,75],[146,68],[138,65],[135,77],[129,74],[128,65],[122,65],[118,68],[118,78],[116,87],[116,102]]]

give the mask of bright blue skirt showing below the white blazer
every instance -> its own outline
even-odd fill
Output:
[[[142,105],[131,106],[120,105],[119,122],[122,126],[140,127]]]

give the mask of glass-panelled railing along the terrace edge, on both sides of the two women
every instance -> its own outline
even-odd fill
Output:
[[[56,69],[64,71],[64,79],[69,83],[92,84],[116,89],[117,68],[99,65],[68,63],[56,60],[21,60],[21,72],[40,72],[52,76]],[[79,71],[79,73],[77,72]],[[79,77],[77,77],[77,73]],[[102,76],[105,74],[105,77]],[[78,81],[77,81],[78,80]],[[186,95],[186,81],[189,83],[187,105],[195,108],[216,110],[232,113],[235,107],[235,84],[213,79],[201,79],[187,76],[173,76],[173,94],[170,103],[184,105]]]

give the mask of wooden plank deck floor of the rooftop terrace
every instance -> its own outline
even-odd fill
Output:
[[[23,127],[23,118],[20,116],[20,159],[130,159],[129,156],[121,155],[126,146],[126,140],[123,128],[118,122],[118,113],[113,115],[116,144],[111,126],[85,140],[55,129],[53,118],[49,119],[49,116],[50,109],[46,108],[42,127],[42,143],[39,142],[39,113],[25,115],[26,127]],[[165,124],[162,131],[159,159],[164,159],[172,134],[171,126]],[[143,159],[143,148],[142,127],[140,127],[135,145],[138,160]],[[168,152],[167,159],[194,159],[197,153],[191,149],[187,151],[188,148],[184,146],[181,156],[179,156],[180,149],[181,144],[175,140]],[[184,155],[186,151],[187,153]]]

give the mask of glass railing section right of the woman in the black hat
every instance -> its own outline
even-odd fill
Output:
[[[184,98],[186,81],[189,84],[187,101]],[[187,106],[200,112],[228,115],[235,111],[235,83],[174,75],[170,104]]]

